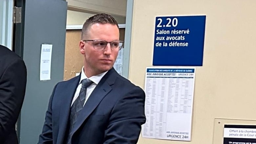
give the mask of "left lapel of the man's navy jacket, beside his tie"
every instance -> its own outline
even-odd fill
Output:
[[[73,100],[79,80],[80,76],[71,79],[71,81],[66,84],[62,91],[62,98],[60,100],[61,107],[59,114],[59,132],[57,138],[57,141],[60,141],[59,143],[63,143],[63,140],[65,139],[64,137],[69,121],[71,102]]]

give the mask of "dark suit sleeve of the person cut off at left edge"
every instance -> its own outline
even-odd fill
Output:
[[[0,75],[0,143],[13,130],[18,119],[27,83],[27,69],[22,59],[12,62]]]

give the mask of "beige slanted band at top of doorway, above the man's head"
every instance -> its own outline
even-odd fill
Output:
[[[67,0],[67,2],[69,10],[78,9],[87,13],[104,11],[119,16],[126,15],[126,0]]]

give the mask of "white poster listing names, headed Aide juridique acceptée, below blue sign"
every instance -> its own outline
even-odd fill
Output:
[[[195,68],[146,68],[142,137],[191,140]]]

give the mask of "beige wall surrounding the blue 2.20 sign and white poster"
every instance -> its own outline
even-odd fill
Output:
[[[134,1],[129,79],[142,88],[145,68],[152,66],[155,17],[206,15],[203,66],[196,68],[191,142],[140,137],[138,144],[211,144],[215,118],[256,119],[255,8],[255,0]]]

